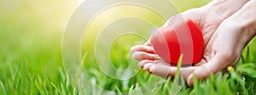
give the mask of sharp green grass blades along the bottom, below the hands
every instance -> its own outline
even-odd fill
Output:
[[[255,50],[254,50],[255,51]],[[103,75],[100,70],[90,67],[90,75],[84,76],[79,86],[73,86],[67,81],[67,75],[62,68],[57,69],[53,77],[45,74],[33,74],[28,63],[23,61],[6,61],[0,66],[0,93],[6,94],[102,94],[119,92],[120,94],[254,94],[256,92],[256,64],[246,53],[243,56],[247,63],[239,62],[234,70],[228,73],[211,75],[206,81],[197,81],[195,86],[187,87],[184,82],[178,85],[178,75],[174,81],[163,80],[154,75],[148,75],[141,70],[129,80],[120,81]],[[61,58],[59,58],[61,59]],[[11,59],[10,59],[11,60]],[[108,91],[108,92],[107,92]],[[110,92],[111,91],[111,92]]]

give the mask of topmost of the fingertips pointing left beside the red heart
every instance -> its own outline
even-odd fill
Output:
[[[136,45],[131,47],[131,52],[146,52],[146,53],[154,53],[154,48],[144,45]]]

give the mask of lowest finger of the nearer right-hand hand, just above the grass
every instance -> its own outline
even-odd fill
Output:
[[[216,54],[207,64],[202,64],[188,77],[188,85],[193,86],[193,75],[197,76],[199,80],[206,79],[209,75],[215,74],[220,70],[223,70],[232,60],[230,56],[226,54]]]

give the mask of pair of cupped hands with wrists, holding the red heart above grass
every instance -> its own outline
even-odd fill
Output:
[[[193,85],[193,75],[203,80],[236,64],[243,48],[256,35],[255,6],[255,0],[213,0],[206,6],[181,13],[200,25],[204,38],[201,62],[180,68],[180,74],[189,86]],[[172,18],[164,26],[170,22]],[[139,66],[148,73],[163,78],[175,76],[177,67],[161,59],[154,52],[150,40],[132,47],[131,52],[133,59],[137,59]]]

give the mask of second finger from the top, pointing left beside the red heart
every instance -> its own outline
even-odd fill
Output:
[[[137,59],[137,60],[143,60],[143,59],[148,59],[148,60],[158,60],[160,57],[156,54],[152,53],[145,53],[145,52],[135,52],[132,53],[132,58]]]

